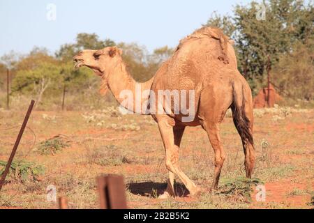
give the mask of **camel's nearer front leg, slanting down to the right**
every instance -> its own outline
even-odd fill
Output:
[[[199,194],[200,188],[197,187],[179,167],[179,146],[175,144],[174,130],[172,126],[167,123],[167,118],[158,120],[158,128],[165,146],[167,169],[173,174],[177,174],[177,176],[179,176],[180,180],[184,183],[191,195]],[[170,177],[171,176],[173,175],[170,174]],[[171,180],[172,179],[170,179],[170,185],[173,185],[173,181],[171,182]]]

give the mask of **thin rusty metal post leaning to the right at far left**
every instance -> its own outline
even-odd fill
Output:
[[[6,169],[4,169],[3,171],[3,174],[1,176],[1,180],[0,180],[0,190],[4,184],[4,181],[6,180],[6,175],[8,174],[8,171],[10,169],[10,166],[12,164],[12,161],[13,161],[13,158],[14,158],[14,155],[15,155],[15,152],[17,151],[17,147],[19,146],[20,144],[20,141],[21,141],[21,138],[22,138],[22,135],[23,135],[23,132],[26,128],[26,125],[27,125],[27,121],[29,121],[29,116],[31,115],[31,110],[33,109],[33,105],[34,105],[35,101],[34,100],[31,100],[31,104],[29,105],[29,109],[27,110],[27,114],[24,118],[24,121],[22,123],[22,126],[21,126],[21,129],[20,129],[20,132],[19,134],[17,134],[17,139],[15,141],[15,144],[13,146],[13,150],[11,152],[11,155],[9,157],[9,160],[8,160],[8,163],[6,164]]]

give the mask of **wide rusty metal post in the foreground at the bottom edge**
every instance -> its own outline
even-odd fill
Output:
[[[109,174],[98,176],[101,209],[126,209],[126,187],[123,176]]]

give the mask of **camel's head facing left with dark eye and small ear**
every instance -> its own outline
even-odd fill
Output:
[[[108,68],[121,56],[121,49],[105,47],[99,50],[84,49],[73,57],[75,68],[87,66],[94,70],[96,75],[103,76]]]

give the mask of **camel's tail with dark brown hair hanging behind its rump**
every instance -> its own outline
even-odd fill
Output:
[[[253,146],[253,107],[251,89],[246,82],[233,82],[232,88],[233,102],[231,109],[234,125],[240,134],[242,143],[246,144],[249,142]]]

